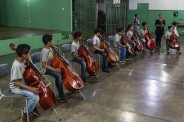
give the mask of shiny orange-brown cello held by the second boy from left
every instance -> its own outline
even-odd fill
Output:
[[[55,57],[51,61],[51,65],[54,68],[61,68],[62,80],[65,88],[71,92],[80,92],[80,89],[84,87],[82,78],[71,68],[68,61],[59,54],[56,47],[52,47],[56,52]]]

